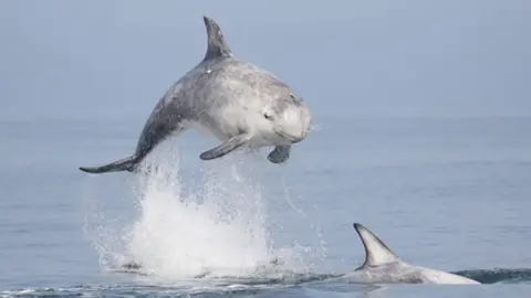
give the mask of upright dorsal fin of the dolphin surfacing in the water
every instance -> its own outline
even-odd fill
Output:
[[[360,223],[354,223],[354,228],[365,247],[365,263],[362,267],[381,266],[399,260],[395,253],[368,228]]]

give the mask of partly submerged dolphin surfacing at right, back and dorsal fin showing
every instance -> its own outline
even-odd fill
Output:
[[[409,265],[362,224],[354,223],[354,228],[365,247],[365,263],[344,278],[375,284],[479,284],[450,273]]]

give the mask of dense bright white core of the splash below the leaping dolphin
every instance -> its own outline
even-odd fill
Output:
[[[267,260],[270,246],[261,193],[226,173],[207,174],[205,189],[183,194],[171,169],[152,171],[139,188],[140,216],[131,231],[128,253],[135,262],[164,276],[196,276],[205,272],[242,274]],[[223,171],[221,169],[221,171]],[[140,180],[146,178],[140,178]]]

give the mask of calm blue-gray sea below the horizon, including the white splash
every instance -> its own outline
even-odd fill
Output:
[[[216,141],[187,132],[149,178],[77,170],[129,155],[144,119],[1,123],[1,295],[529,296],[531,118],[316,123],[283,166],[201,161]],[[354,222],[488,285],[336,281],[363,263]]]

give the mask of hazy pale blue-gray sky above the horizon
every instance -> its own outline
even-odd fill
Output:
[[[304,4],[302,4],[304,3]],[[531,115],[531,1],[0,1],[0,117],[139,118],[201,15],[317,115]]]

